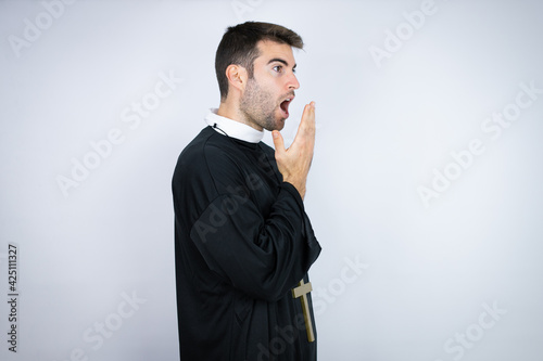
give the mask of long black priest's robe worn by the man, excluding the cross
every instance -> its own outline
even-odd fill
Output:
[[[172,190],[181,360],[316,360],[290,289],[308,281],[320,246],[274,150],[207,127],[179,156]],[[292,341],[275,354],[285,330]]]

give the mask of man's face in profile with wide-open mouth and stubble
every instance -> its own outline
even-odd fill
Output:
[[[274,41],[257,43],[254,77],[248,80],[240,111],[254,128],[281,130],[289,117],[289,103],[300,83],[294,75],[292,48]]]

